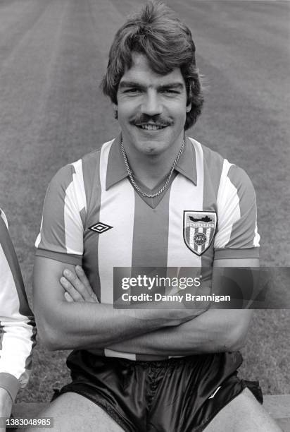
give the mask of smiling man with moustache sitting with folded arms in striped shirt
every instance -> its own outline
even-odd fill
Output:
[[[115,35],[103,91],[122,133],[56,174],[36,243],[40,335],[75,349],[73,383],[41,415],[56,430],[278,431],[237,377],[251,311],[112,306],[127,268],[189,268],[206,286],[258,265],[251,181],[184,136],[203,103],[189,28],[144,6]]]

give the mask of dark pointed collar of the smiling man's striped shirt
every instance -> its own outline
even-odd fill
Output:
[[[108,168],[106,175],[106,191],[114,184],[128,176],[124,158],[121,150],[122,135],[115,138],[111,145],[108,155]],[[196,176],[196,155],[194,146],[187,136],[184,136],[184,150],[175,166],[177,172],[187,177],[195,185],[197,184]]]

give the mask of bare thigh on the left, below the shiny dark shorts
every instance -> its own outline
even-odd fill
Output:
[[[124,432],[101,407],[73,392],[59,396],[38,417],[53,417],[53,428],[45,429],[51,432]],[[26,431],[44,432],[44,428]]]

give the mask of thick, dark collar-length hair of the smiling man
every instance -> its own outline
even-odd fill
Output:
[[[187,89],[187,113],[184,129],[196,123],[203,106],[201,79],[196,68],[195,46],[191,31],[162,1],[149,1],[127,19],[118,30],[109,52],[106,75],[101,81],[103,93],[118,104],[120,79],[132,66],[132,52],[144,54],[152,70],[160,75],[180,68]]]

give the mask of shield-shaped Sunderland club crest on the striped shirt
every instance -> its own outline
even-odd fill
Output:
[[[201,256],[209,248],[216,227],[217,215],[215,212],[184,210],[184,242],[196,255]]]

